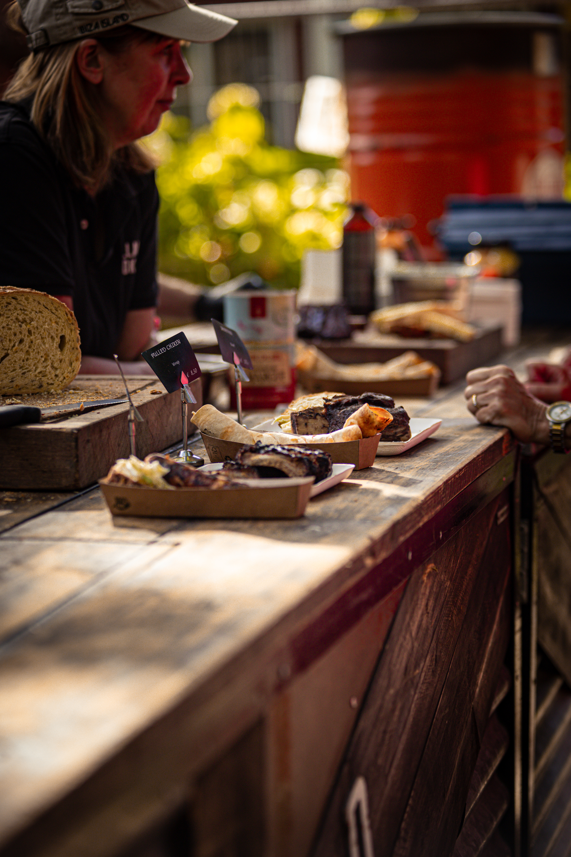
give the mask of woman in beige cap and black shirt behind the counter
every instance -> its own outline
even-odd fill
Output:
[[[186,0],[20,0],[9,15],[33,53],[0,103],[0,283],[74,309],[82,373],[115,373],[117,353],[152,374],[134,361],[156,314],[158,192],[136,141],[192,79],[181,40],[236,21]]]

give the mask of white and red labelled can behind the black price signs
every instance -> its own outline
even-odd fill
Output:
[[[294,399],[296,291],[235,291],[224,297],[224,323],[250,352],[250,381],[242,384],[245,411],[271,409]],[[233,387],[231,403],[235,407]]]

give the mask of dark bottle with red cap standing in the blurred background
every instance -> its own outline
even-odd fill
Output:
[[[375,224],[377,215],[362,202],[351,205],[343,227],[343,300],[351,315],[375,309]]]

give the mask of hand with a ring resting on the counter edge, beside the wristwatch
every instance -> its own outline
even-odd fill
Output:
[[[522,443],[549,443],[546,406],[527,392],[508,366],[473,369],[466,381],[467,409],[480,423],[505,426]]]

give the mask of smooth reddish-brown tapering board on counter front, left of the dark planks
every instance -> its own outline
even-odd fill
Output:
[[[266,732],[273,809],[267,853],[273,857],[309,851],[406,584],[378,602],[271,702]]]

